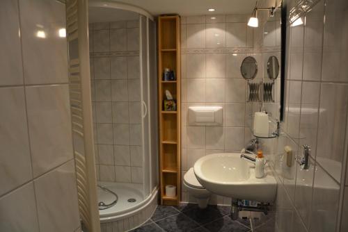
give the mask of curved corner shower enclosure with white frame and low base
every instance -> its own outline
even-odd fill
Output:
[[[88,20],[100,222],[125,231],[157,204],[156,26],[109,1],[90,1]]]

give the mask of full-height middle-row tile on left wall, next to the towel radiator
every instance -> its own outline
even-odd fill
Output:
[[[33,175],[73,158],[68,85],[26,87]]]

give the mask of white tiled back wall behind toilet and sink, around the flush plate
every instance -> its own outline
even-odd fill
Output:
[[[239,152],[251,139],[249,114],[260,105],[246,103],[247,85],[240,74],[240,65],[246,56],[255,57],[259,66],[255,81],[262,81],[268,57],[279,56],[280,24],[270,22],[265,29],[269,34],[264,34],[263,28],[255,30],[246,26],[248,17],[182,17],[182,176],[198,158],[212,153]],[[223,124],[189,125],[189,106],[222,106]],[[194,201],[185,188],[182,191],[182,201]],[[210,203],[230,204],[230,199],[213,196]]]

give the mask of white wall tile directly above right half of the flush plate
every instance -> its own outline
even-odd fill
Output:
[[[225,79],[206,79],[205,101],[206,102],[223,102],[224,100],[225,100]]]

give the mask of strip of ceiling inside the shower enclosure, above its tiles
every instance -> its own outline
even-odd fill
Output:
[[[146,0],[145,0],[146,1]],[[139,19],[139,14],[128,10],[115,8],[90,7],[88,10],[88,22],[116,22],[123,20]]]

